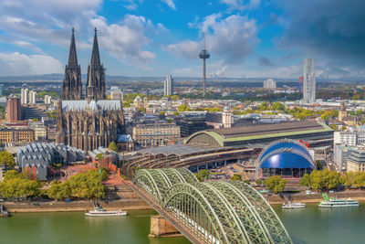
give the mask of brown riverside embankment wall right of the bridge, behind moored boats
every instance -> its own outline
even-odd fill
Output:
[[[365,191],[334,192],[334,193],[329,193],[328,197],[337,197],[337,198],[351,197],[351,199],[353,199],[353,200],[365,201]],[[265,196],[265,198],[271,205],[282,204],[284,202],[284,199],[278,195]],[[292,202],[319,203],[322,200],[323,200],[323,197],[320,193],[316,193],[313,195],[304,195],[302,193],[291,195]]]

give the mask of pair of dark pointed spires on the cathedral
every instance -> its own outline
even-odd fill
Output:
[[[72,28],[71,44],[68,54],[68,65],[66,66],[65,79],[63,80],[62,100],[83,99],[81,69],[78,65],[74,32],[75,30]],[[103,65],[100,64],[97,28],[95,28],[91,63],[88,67],[86,97],[89,101],[105,99],[105,69]]]

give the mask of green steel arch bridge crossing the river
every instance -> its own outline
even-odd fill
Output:
[[[141,169],[140,195],[194,243],[292,243],[275,211],[243,182],[199,183],[184,168]]]

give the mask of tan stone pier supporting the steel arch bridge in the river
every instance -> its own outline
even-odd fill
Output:
[[[172,224],[161,215],[151,216],[151,238],[183,236]]]

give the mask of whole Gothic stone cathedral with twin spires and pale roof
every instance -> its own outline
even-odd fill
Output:
[[[72,28],[62,99],[58,103],[57,143],[92,151],[99,146],[108,147],[110,142],[118,143],[124,129],[122,102],[106,100],[105,97],[105,69],[100,63],[97,29],[88,67],[86,95],[83,96]]]

